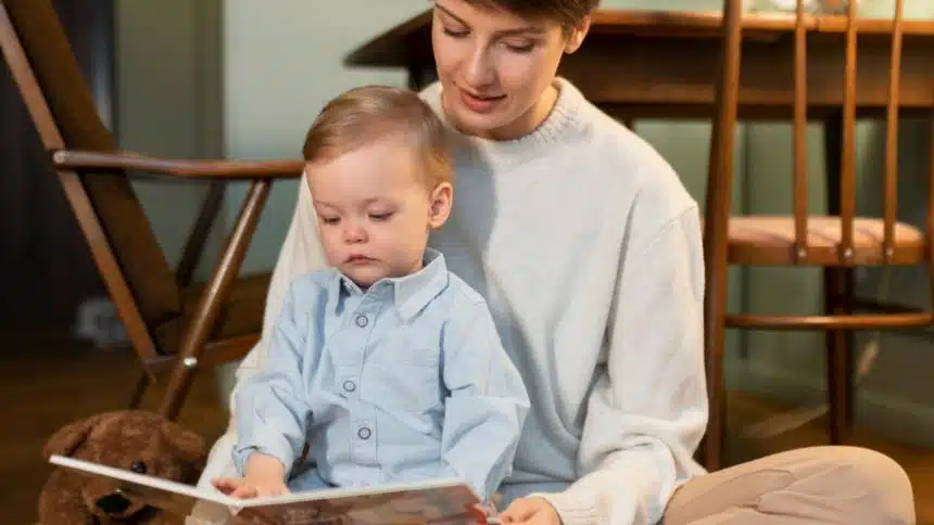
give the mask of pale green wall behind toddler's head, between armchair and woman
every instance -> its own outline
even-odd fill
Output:
[[[301,157],[325,102],[362,84],[403,86],[400,71],[349,71],[344,55],[426,9],[427,0],[224,0],[224,149],[237,158]],[[274,188],[244,271],[273,267],[291,219],[296,182]],[[245,187],[231,191],[232,223]],[[240,199],[236,199],[236,196]]]

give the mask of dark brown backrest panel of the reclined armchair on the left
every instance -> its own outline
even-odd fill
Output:
[[[43,146],[115,150],[50,0],[0,0],[0,5],[10,23],[0,40],[3,54],[12,57],[11,68],[21,68],[21,78],[25,68],[38,86],[20,88]],[[126,174],[86,175],[79,181],[62,183],[66,193],[81,192],[91,203],[143,320],[157,323],[178,316],[181,297],[174,273]],[[76,216],[79,222],[89,220]],[[83,230],[87,234],[84,225]]]

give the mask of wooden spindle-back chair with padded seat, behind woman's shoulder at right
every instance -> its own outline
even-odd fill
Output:
[[[737,117],[742,55],[741,0],[725,0],[723,11],[723,63],[717,92],[717,114],[710,150],[705,253],[707,258],[706,353],[710,388],[710,423],[703,447],[705,463],[721,463],[724,430],[723,344],[727,328],[766,330],[821,330],[828,332],[828,394],[831,443],[843,441],[853,427],[853,358],[849,353],[854,330],[921,328],[934,322],[930,311],[895,305],[879,305],[875,311],[855,313],[853,270],[857,267],[926,265],[932,271],[931,232],[934,231],[934,202],[927,203],[927,231],[899,222],[897,133],[899,123],[899,75],[903,38],[903,0],[895,1],[891,31],[871,35],[891,38],[887,101],[872,105],[885,110],[885,169],[882,217],[859,217],[856,212],[855,138],[858,110],[857,56],[859,36],[857,3],[848,2],[845,15],[813,16],[805,12],[803,0],[795,13],[793,71],[793,210],[787,216],[731,216],[733,179],[733,130]],[[805,163],[805,127],[815,117],[808,101],[808,38],[842,39],[844,92],[836,113],[837,132],[829,132],[828,215],[808,213]],[[878,40],[876,40],[878,42]],[[880,46],[874,47],[875,50]],[[825,73],[822,73],[825,75]],[[934,88],[934,87],[932,87]],[[821,107],[821,111],[826,111]],[[860,107],[862,110],[862,107]],[[934,110],[934,108],[932,108]],[[930,116],[930,114],[929,114]],[[835,158],[834,158],[835,157]],[[752,169],[755,169],[753,167]],[[934,181],[934,169],[929,175]],[[824,312],[802,316],[766,316],[727,311],[729,266],[810,267],[824,269]],[[931,295],[934,297],[934,281]]]

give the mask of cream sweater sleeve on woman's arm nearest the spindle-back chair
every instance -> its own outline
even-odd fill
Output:
[[[692,458],[707,423],[697,207],[627,252],[606,367],[588,400],[582,475],[563,492],[538,495],[564,525],[656,523],[673,490],[703,472]]]

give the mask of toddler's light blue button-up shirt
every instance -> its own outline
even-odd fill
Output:
[[[254,450],[290,468],[307,439],[331,485],[459,477],[492,497],[528,393],[483,298],[439,252],[425,260],[367,291],[335,269],[293,281],[266,369],[238,387],[241,475]]]

